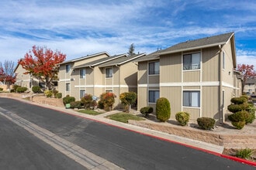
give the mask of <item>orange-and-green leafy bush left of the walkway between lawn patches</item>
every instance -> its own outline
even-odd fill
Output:
[[[99,103],[102,103],[104,106],[104,110],[109,111],[112,110],[113,104],[115,104],[115,97],[114,93],[106,92],[102,93],[100,96]]]

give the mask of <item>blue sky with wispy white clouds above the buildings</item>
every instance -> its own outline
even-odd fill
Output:
[[[256,67],[254,0],[1,0],[0,62],[33,45],[67,59],[102,51],[151,53],[188,39],[235,32],[237,63]]]

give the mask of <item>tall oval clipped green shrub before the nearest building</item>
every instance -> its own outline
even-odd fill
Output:
[[[159,121],[168,121],[171,116],[171,106],[167,98],[157,99],[156,115]]]

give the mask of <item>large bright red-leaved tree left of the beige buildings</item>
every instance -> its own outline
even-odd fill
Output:
[[[31,74],[40,78],[46,83],[48,90],[52,87],[52,80],[57,78],[58,63],[64,62],[66,54],[56,50],[55,52],[47,47],[32,47],[32,51],[26,53],[19,64],[26,70],[24,74]]]

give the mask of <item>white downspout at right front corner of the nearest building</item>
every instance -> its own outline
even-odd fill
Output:
[[[222,57],[222,46],[219,45],[219,56],[220,56],[220,93],[219,93],[219,112],[220,112],[220,123],[224,122],[223,114],[223,57]]]

